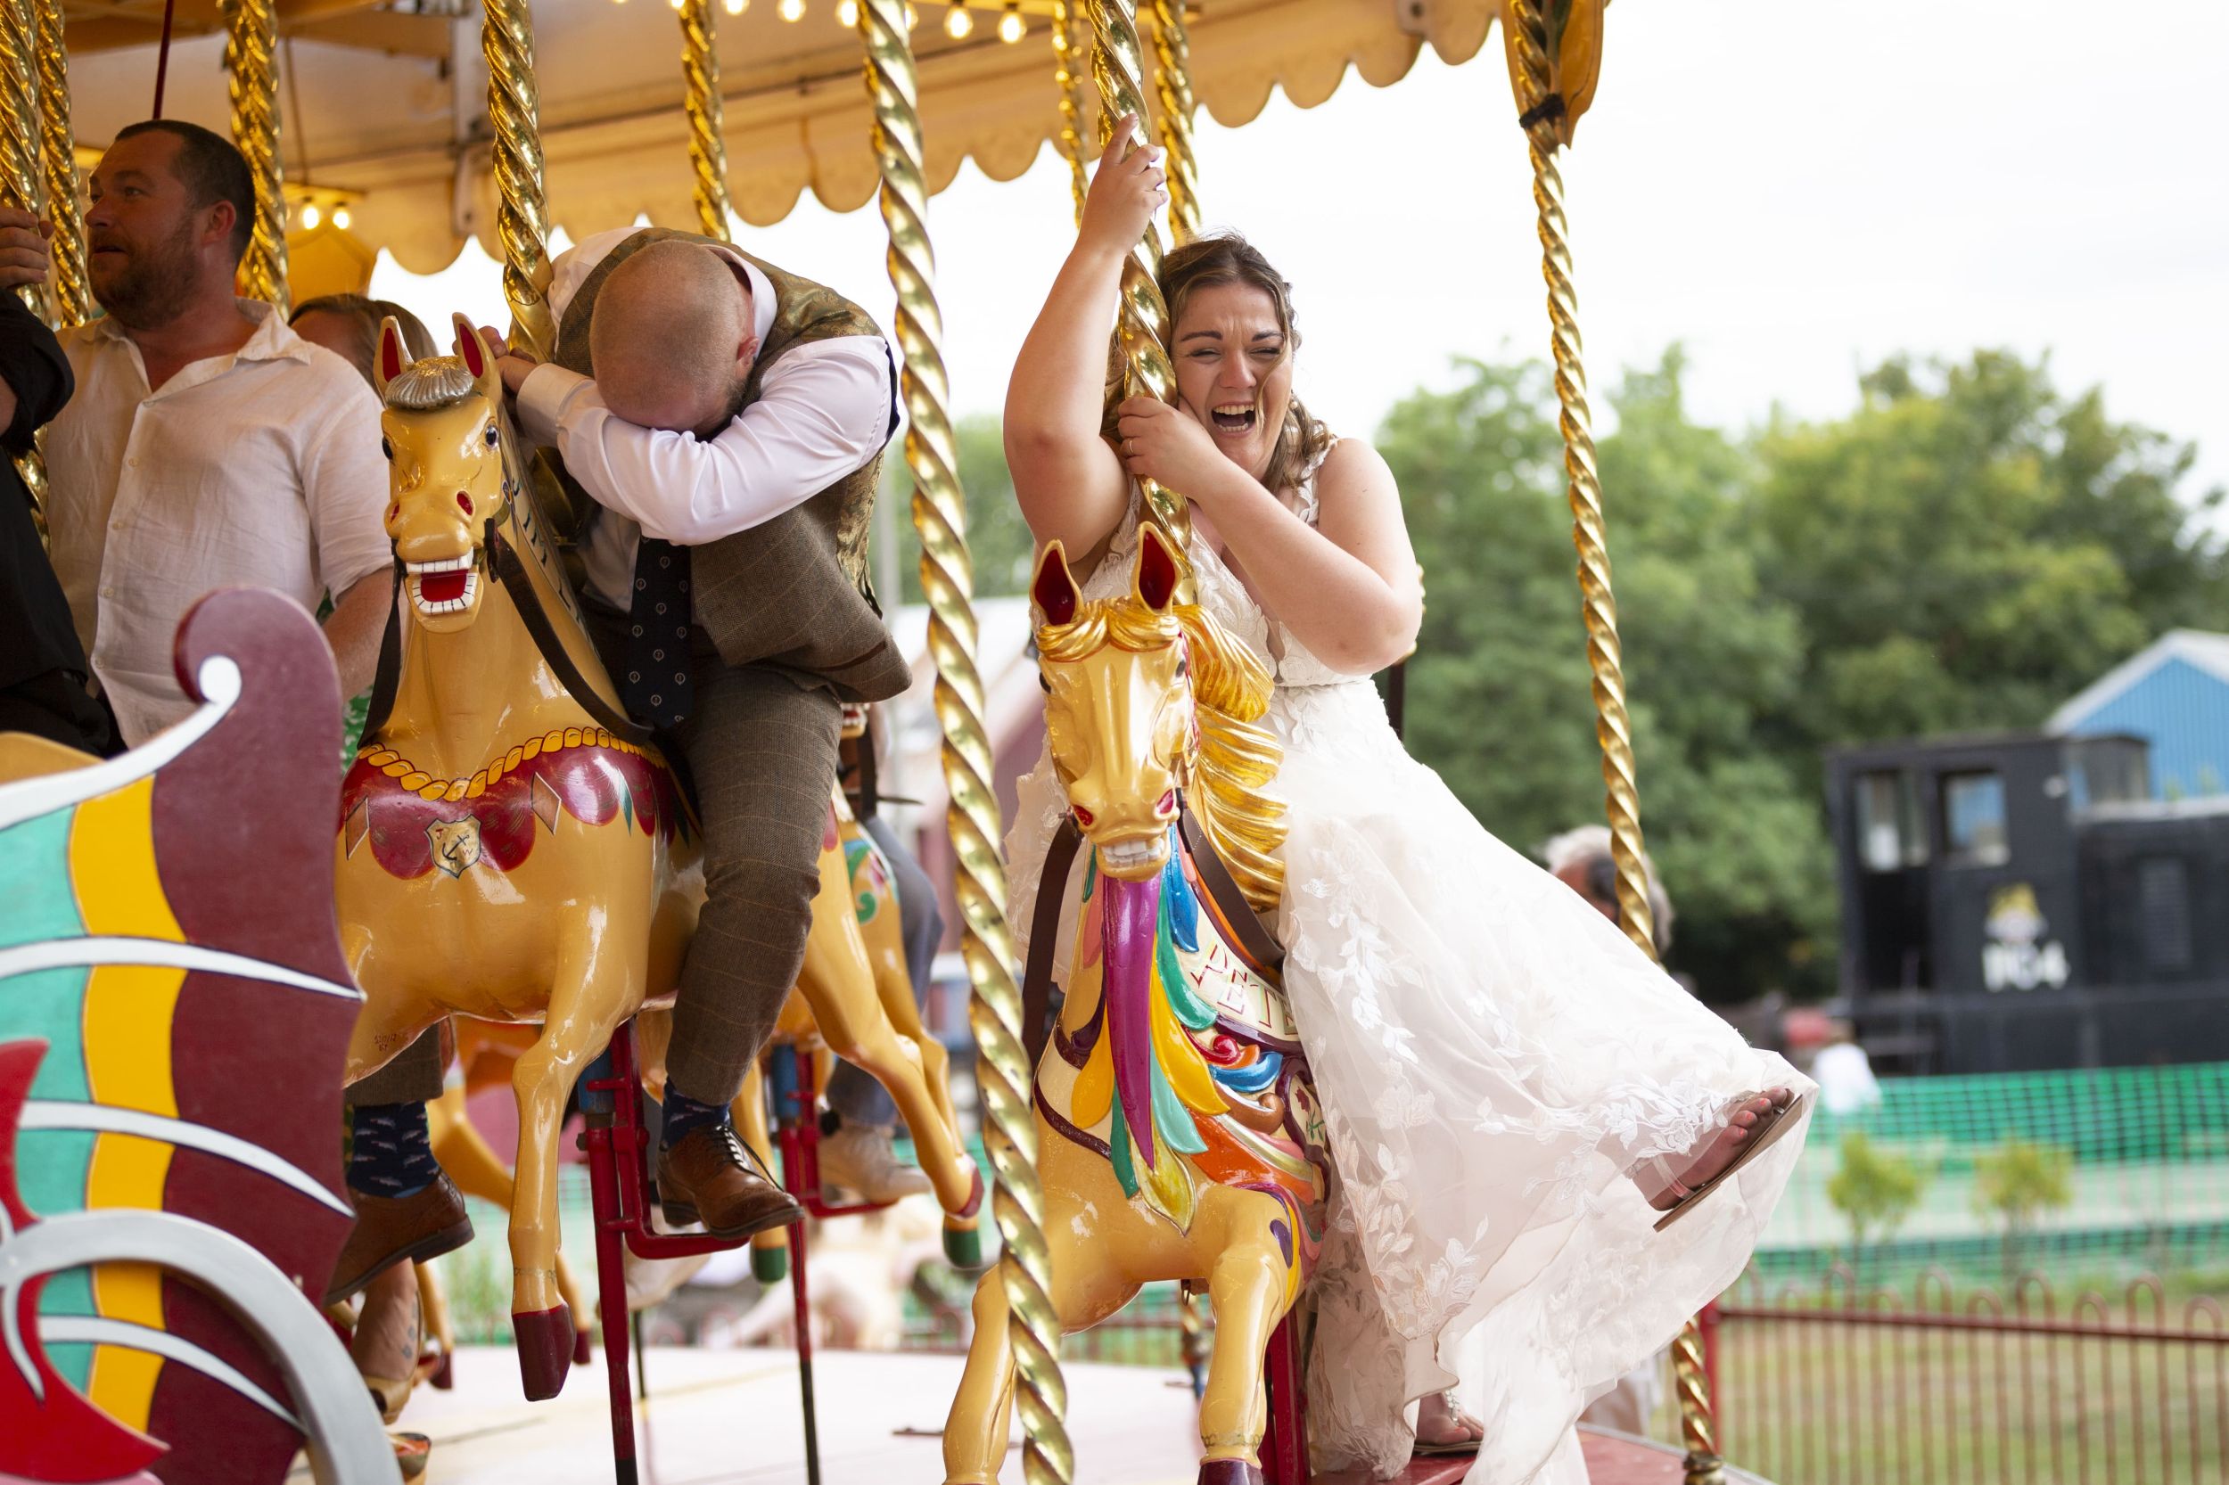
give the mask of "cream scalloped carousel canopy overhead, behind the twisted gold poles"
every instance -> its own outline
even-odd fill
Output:
[[[713,11],[736,212],[776,223],[807,190],[836,212],[863,205],[876,190],[872,111],[840,0],[744,0],[729,16],[731,2]],[[967,158],[1012,181],[1059,134],[1052,0],[1021,0],[1019,42],[1001,40],[1003,0],[981,0],[965,38],[947,33],[947,0],[916,7],[929,190]],[[1427,42],[1469,60],[1498,11],[1500,0],[1201,0],[1188,11],[1193,89],[1224,125],[1259,114],[1273,87],[1313,107],[1349,67],[1395,82]],[[76,132],[98,147],[149,114],[163,0],[69,0],[67,16]],[[660,0],[535,0],[533,22],[551,221],[575,241],[640,214],[693,223],[675,13]],[[225,129],[216,0],[178,0],[174,25],[165,114]],[[345,196],[354,236],[412,272],[448,265],[466,236],[499,254],[479,7],[279,0],[279,31],[290,190]],[[1088,40],[1077,62],[1090,132]]]

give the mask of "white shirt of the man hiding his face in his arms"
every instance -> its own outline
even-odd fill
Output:
[[[600,232],[551,265],[551,314],[564,319],[588,272],[637,227]],[[713,248],[751,285],[751,332],[765,343],[773,283],[731,248]],[[640,428],[615,417],[595,381],[537,366],[519,386],[519,426],[553,446],[595,495],[582,555],[588,586],[626,609],[642,533],[702,546],[762,526],[836,484],[889,441],[892,357],[878,334],[794,346],[767,366],[758,399],[713,439]]]

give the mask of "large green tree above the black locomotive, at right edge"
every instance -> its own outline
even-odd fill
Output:
[[[1768,593],[1808,633],[1792,745],[2035,727],[2162,629],[2229,622],[2189,446],[1999,350],[1859,386],[1850,417],[1756,441]]]

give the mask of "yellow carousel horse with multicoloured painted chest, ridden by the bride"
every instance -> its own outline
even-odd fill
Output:
[[[1068,787],[1039,885],[1030,990],[1059,932],[1068,854],[1090,843],[1061,1021],[1036,1068],[1039,1177],[1063,1331],[1184,1280],[1215,1304],[1199,1402],[1204,1485],[1259,1483],[1262,1351],[1324,1217],[1322,1113],[1257,912],[1279,892],[1279,807],[1259,796],[1271,676],[1175,602],[1179,560],[1141,531],[1132,591],[1086,602],[1061,544],[1032,582],[1052,760]],[[1242,885],[1244,883],[1244,885]],[[1005,1289],[976,1287],[945,1425],[945,1481],[992,1485],[1014,1389]]]

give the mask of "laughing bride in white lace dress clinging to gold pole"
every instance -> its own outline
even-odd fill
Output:
[[[1177,406],[1126,401],[1119,441],[1101,437],[1121,263],[1168,198],[1159,152],[1126,154],[1135,129],[1117,127],[1023,343],[1005,453],[1036,542],[1081,553],[1086,598],[1128,582],[1135,482],[1181,491],[1199,602],[1275,664],[1277,936],[1337,1168],[1315,1465],[1384,1478],[1413,1449],[1476,1449],[1471,1485],[1583,1481],[1574,1420],[1741,1273],[1810,1084],[1402,749],[1369,682],[1422,613],[1400,491],[1293,395],[1288,288],[1246,241],[1168,254]],[[1041,760],[1008,838],[1016,930],[1063,809]],[[1487,1425],[1447,1396],[1458,1342]]]

